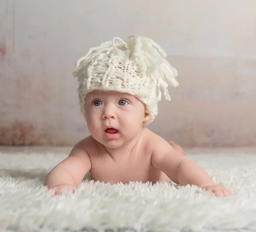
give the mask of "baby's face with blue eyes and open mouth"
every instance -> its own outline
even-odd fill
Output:
[[[148,120],[145,105],[137,97],[115,91],[89,92],[84,109],[90,134],[110,148],[134,139]]]

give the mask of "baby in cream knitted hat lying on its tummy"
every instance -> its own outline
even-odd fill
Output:
[[[68,158],[48,174],[44,185],[54,194],[79,186],[87,172],[104,183],[173,181],[196,185],[211,195],[231,192],[216,185],[207,172],[145,126],[157,115],[168,86],[178,86],[177,71],[150,38],[130,36],[94,47],[73,72],[79,81],[81,112],[90,136],[79,141]]]

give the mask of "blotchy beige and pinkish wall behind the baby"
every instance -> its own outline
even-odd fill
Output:
[[[0,0],[0,144],[89,135],[74,63],[131,34],[153,38],[179,72],[150,129],[183,146],[256,145],[255,0]]]

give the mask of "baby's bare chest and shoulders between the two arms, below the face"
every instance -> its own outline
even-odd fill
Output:
[[[91,161],[92,179],[111,184],[129,183],[130,181],[143,183],[171,181],[165,173],[155,169],[151,164],[151,141],[154,136],[157,135],[145,128],[131,152],[122,153],[116,159],[93,137],[89,136],[84,139],[84,149]]]

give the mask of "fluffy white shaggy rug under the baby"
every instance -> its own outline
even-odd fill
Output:
[[[68,152],[0,149],[0,232],[255,232],[256,153],[191,152],[230,197],[171,183],[104,184],[51,196],[47,173]]]

